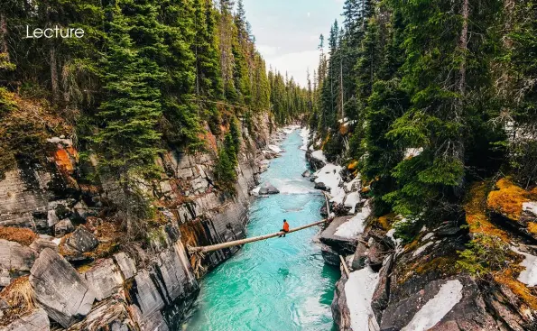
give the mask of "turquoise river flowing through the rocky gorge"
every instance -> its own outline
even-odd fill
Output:
[[[250,209],[248,236],[320,220],[324,198],[301,173],[307,169],[300,131],[280,146],[282,157],[271,161],[262,183],[271,182],[281,194],[256,198]],[[187,331],[330,331],[330,303],[337,268],[323,262],[312,242],[319,227],[285,238],[245,246],[201,281],[199,298],[182,326]]]

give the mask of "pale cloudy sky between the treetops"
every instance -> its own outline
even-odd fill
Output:
[[[306,70],[317,69],[319,35],[328,39],[344,0],[243,0],[257,50],[267,64],[306,87]],[[326,44],[326,42],[325,42]]]

